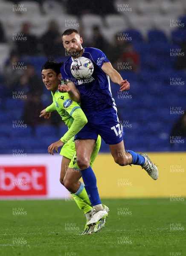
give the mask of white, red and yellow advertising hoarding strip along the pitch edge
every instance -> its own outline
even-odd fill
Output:
[[[159,169],[152,180],[140,166],[118,166],[110,154],[99,154],[93,170],[101,198],[170,198],[186,196],[186,153],[150,153]],[[48,154],[0,156],[0,198],[71,200],[59,182],[61,157]]]

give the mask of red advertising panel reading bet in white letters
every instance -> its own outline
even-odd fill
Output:
[[[0,196],[46,195],[46,166],[0,166]]]

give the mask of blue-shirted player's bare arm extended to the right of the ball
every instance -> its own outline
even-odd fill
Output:
[[[102,70],[110,77],[113,83],[119,84],[120,91],[129,90],[129,82],[126,79],[122,79],[120,74],[113,68],[110,62],[104,62],[104,64],[102,65]]]

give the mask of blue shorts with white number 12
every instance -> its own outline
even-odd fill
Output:
[[[98,134],[106,144],[114,145],[123,140],[123,129],[119,122],[117,109],[109,106],[100,111],[85,113],[87,124],[75,136],[75,140],[97,140]]]

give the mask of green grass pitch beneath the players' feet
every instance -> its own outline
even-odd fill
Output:
[[[0,256],[186,255],[186,203],[168,199],[102,200],[110,208],[101,232],[85,224],[73,201],[0,202]]]

